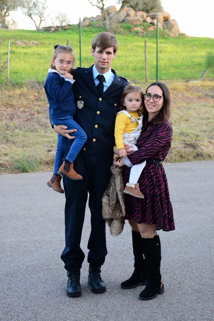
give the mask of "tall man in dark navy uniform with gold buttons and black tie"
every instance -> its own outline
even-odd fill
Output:
[[[109,32],[100,32],[92,41],[94,65],[76,68],[73,73],[73,93],[77,105],[74,120],[84,129],[87,141],[74,161],[73,168],[82,180],[64,176],[65,191],[65,248],[61,259],[67,270],[68,296],[80,296],[80,269],[84,260],[81,233],[89,192],[91,233],[88,241],[88,282],[94,293],[106,291],[100,272],[107,255],[105,221],[102,218],[102,196],[110,180],[115,144],[114,128],[120,99],[127,80],[111,69],[117,53],[117,38]],[[67,136],[65,156],[71,147],[75,130],[55,126],[57,133]],[[128,149],[130,147],[126,147]],[[128,154],[130,151],[128,152]]]

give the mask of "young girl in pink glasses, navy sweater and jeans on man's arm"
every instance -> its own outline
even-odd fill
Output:
[[[55,46],[55,51],[50,62],[50,69],[45,82],[45,92],[49,103],[49,117],[52,125],[64,125],[67,129],[76,129],[75,139],[64,160],[66,137],[58,134],[54,174],[47,185],[54,191],[64,193],[61,187],[62,176],[70,179],[82,179],[73,169],[73,162],[86,142],[87,135],[84,130],[73,120],[76,104],[73,95],[73,65],[75,63],[73,49],[69,46]]]

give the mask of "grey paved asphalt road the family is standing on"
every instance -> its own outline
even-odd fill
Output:
[[[133,272],[131,229],[118,237],[107,228],[102,267],[107,291],[93,294],[88,263],[81,269],[82,296],[65,295],[64,195],[46,185],[51,173],[0,176],[0,320],[159,321],[214,320],[214,161],[166,164],[175,231],[160,231],[165,293],[138,299],[143,287],[123,290]],[[90,212],[81,246],[87,255]]]

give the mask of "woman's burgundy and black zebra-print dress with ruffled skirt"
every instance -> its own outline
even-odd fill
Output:
[[[168,121],[153,125],[154,120],[143,124],[138,139],[138,151],[128,156],[133,165],[144,160],[163,161],[171,147],[172,126]],[[130,167],[123,171],[124,184],[129,181]],[[146,163],[138,180],[144,199],[125,194],[125,219],[136,223],[156,224],[156,230],[175,230],[172,204],[169,198],[167,177],[162,164]]]

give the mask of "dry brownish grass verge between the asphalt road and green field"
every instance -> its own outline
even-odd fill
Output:
[[[172,96],[173,141],[165,161],[213,160],[214,82],[167,85]],[[145,91],[145,84],[142,87]],[[0,173],[24,171],[17,166],[17,158],[26,160],[26,155],[35,170],[53,170],[57,136],[49,125],[43,87],[36,82],[4,86],[0,94]]]

